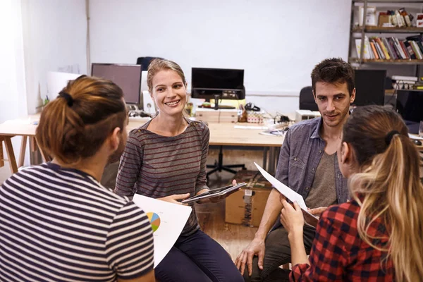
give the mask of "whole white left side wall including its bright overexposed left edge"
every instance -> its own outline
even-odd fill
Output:
[[[87,73],[86,32],[85,0],[0,1],[0,123],[36,112],[47,71]],[[12,138],[16,159],[20,140]],[[10,175],[6,162],[0,183]]]

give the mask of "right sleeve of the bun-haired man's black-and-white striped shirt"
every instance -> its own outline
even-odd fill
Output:
[[[154,265],[152,228],[133,202],[125,204],[114,217],[106,238],[109,267],[118,278],[133,279],[152,271]]]

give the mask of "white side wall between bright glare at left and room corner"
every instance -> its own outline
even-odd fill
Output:
[[[47,72],[87,73],[85,0],[21,0],[27,111],[47,94]],[[50,99],[55,97],[49,97]]]

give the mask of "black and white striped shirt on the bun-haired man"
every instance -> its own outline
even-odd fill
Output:
[[[116,281],[153,269],[142,209],[92,176],[56,164],[0,187],[0,281]]]

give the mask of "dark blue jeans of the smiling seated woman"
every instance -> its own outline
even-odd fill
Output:
[[[161,282],[243,282],[226,250],[202,231],[180,236],[154,269]]]

